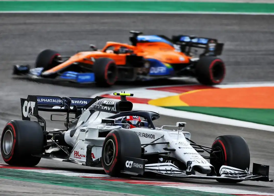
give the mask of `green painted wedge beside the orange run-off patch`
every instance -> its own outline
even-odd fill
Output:
[[[195,106],[174,106],[165,108],[208,114],[212,116],[274,126],[274,109],[217,108]]]

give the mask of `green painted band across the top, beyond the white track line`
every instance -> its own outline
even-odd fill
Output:
[[[274,4],[180,1],[0,1],[0,11],[179,11],[274,13]]]

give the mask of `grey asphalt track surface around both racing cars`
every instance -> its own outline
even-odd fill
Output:
[[[78,50],[88,50],[88,44],[91,43],[101,48],[105,41],[128,42],[129,30],[140,30],[145,34],[165,34],[167,36],[195,34],[217,38],[225,43],[221,56],[227,65],[227,76],[224,82],[273,81],[274,16],[0,14],[0,18],[0,126],[2,128],[8,120],[21,119],[20,98],[27,97],[28,94],[89,97],[106,90],[95,88],[93,85],[67,87],[66,85],[40,84],[12,79],[12,65],[33,64],[36,55],[46,48],[55,49],[64,55],[71,55]],[[165,82],[167,81],[157,84],[163,85]],[[191,82],[195,82],[195,80],[187,80],[185,83]],[[112,89],[115,91],[118,88],[145,85],[155,85],[155,83],[119,84]],[[45,119],[49,120],[50,116],[47,114]],[[270,178],[274,178],[273,132],[167,116],[161,117],[158,126],[174,124],[182,120],[187,122],[186,130],[191,132],[192,139],[202,145],[211,145],[219,135],[237,134],[244,137],[250,148],[251,163],[270,165]],[[62,128],[62,123],[58,122],[50,122],[47,125],[48,129]],[[51,160],[42,160],[38,166],[94,172],[91,168],[84,166]],[[274,193],[274,183],[250,181],[226,185],[214,180],[178,181]],[[19,181],[13,181],[10,184],[11,195],[16,195],[16,189],[20,184],[22,183]],[[27,187],[25,189],[31,190],[33,183],[24,182],[24,186]],[[50,188],[49,185],[45,186]],[[36,194],[43,194],[42,186],[38,187],[35,190]],[[0,193],[4,192],[4,189],[0,189]],[[61,192],[59,193],[61,194]],[[82,193],[85,194],[85,190],[82,190]],[[78,192],[78,194],[80,193]]]

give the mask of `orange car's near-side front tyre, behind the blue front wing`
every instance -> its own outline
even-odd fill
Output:
[[[96,86],[110,87],[118,78],[118,69],[115,61],[110,58],[98,58],[93,64]]]

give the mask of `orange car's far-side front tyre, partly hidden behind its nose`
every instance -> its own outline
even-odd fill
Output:
[[[38,54],[35,67],[43,67],[44,71],[49,70],[60,64],[60,54],[54,50],[46,49]]]

